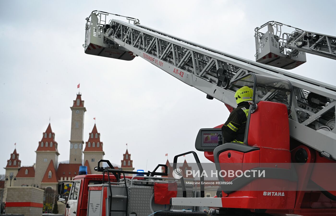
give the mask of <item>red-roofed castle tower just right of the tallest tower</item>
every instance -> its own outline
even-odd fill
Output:
[[[91,174],[101,174],[94,170],[94,167],[98,165],[98,161],[103,159],[103,155],[105,154],[96,124],[94,124],[92,132],[89,133],[89,140],[85,144],[85,150],[83,151],[84,163],[88,162]]]

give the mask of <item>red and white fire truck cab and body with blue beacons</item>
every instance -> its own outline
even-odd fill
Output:
[[[196,154],[195,154],[196,155]],[[197,155],[196,155],[197,157]],[[200,164],[197,158],[198,164]],[[162,167],[164,172],[157,172]],[[196,184],[181,186],[175,178],[167,176],[167,165],[159,164],[152,172],[124,171],[113,167],[108,160],[100,160],[96,171],[102,174],[79,173],[72,181],[66,203],[66,216],[74,215],[150,215],[153,212],[169,210],[180,212],[199,212],[200,207],[191,205],[172,206],[171,197],[204,196],[204,186],[197,192]],[[125,176],[126,174],[126,176]],[[127,174],[133,174],[128,176]],[[156,176],[162,177],[156,177]],[[195,181],[195,179],[186,179]],[[64,182],[58,184],[58,201],[64,202]],[[192,213],[195,215],[195,213]],[[206,214],[205,214],[206,215]]]

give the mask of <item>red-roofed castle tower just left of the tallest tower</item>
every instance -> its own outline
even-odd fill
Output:
[[[58,150],[57,142],[55,141],[55,133],[51,130],[49,123],[46,131],[43,133],[42,140],[39,142],[36,152],[35,163],[35,184],[41,188],[43,176],[47,170],[50,161],[53,161],[54,169],[57,169],[58,164]]]

